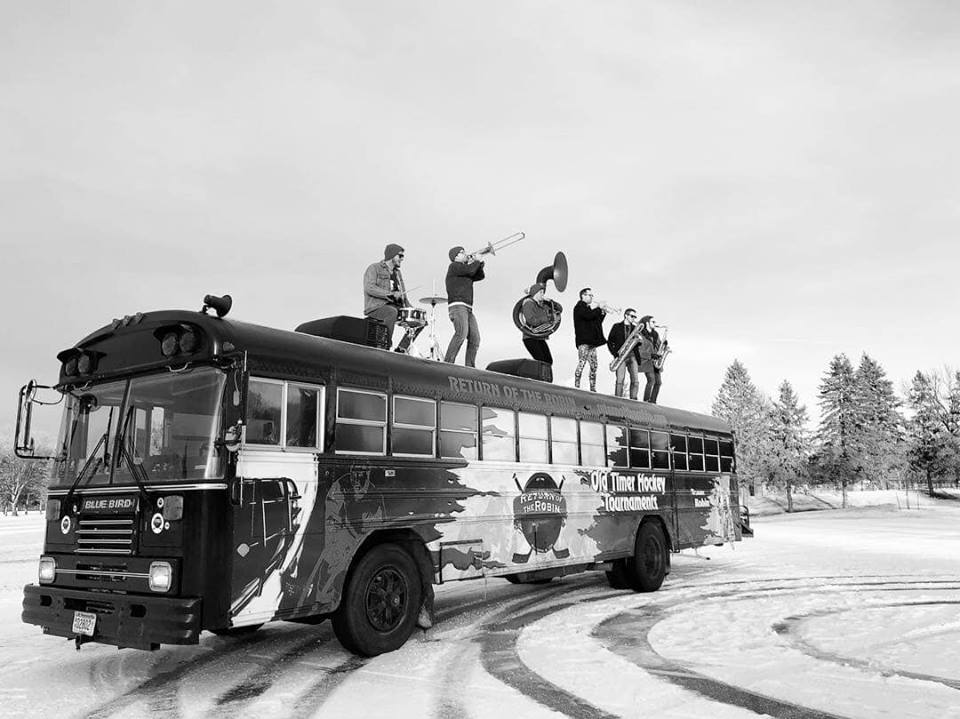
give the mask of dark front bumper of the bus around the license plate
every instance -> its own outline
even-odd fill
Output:
[[[196,644],[201,631],[200,597],[107,594],[28,584],[23,588],[27,624],[45,634],[116,647],[156,649],[161,644]],[[93,636],[74,630],[77,612],[95,614]]]

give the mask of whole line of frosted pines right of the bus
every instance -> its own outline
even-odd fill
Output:
[[[820,420],[789,381],[776,398],[760,391],[739,360],[727,368],[714,398],[714,416],[737,440],[743,486],[783,490],[787,511],[799,486],[902,488],[924,485],[930,494],[960,486],[960,372],[917,371],[898,397],[880,363],[866,353],[854,368],[836,355],[818,389]]]

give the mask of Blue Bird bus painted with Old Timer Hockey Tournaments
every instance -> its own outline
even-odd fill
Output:
[[[444,582],[600,570],[655,591],[671,552],[741,539],[719,419],[389,352],[366,320],[239,322],[218,299],[58,355],[24,622],[155,649],[329,618],[373,656],[432,623]],[[20,393],[21,456],[41,389]]]

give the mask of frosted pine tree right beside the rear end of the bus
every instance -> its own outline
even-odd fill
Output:
[[[737,473],[742,486],[756,487],[764,478],[765,399],[740,360],[734,360],[727,368],[711,411],[733,429],[737,440]]]

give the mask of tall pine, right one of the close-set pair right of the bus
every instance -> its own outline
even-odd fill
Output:
[[[890,475],[904,465],[903,417],[893,383],[866,353],[854,375],[854,398],[861,420],[858,462],[865,479],[886,488]]]

